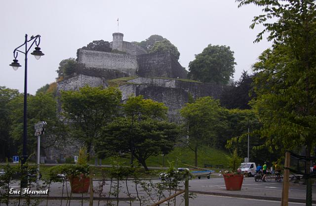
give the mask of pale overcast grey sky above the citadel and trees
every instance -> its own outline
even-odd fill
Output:
[[[124,41],[161,35],[178,47],[179,62],[187,70],[195,54],[208,44],[230,46],[237,62],[234,79],[238,80],[243,70],[251,72],[251,65],[271,43],[253,43],[262,27],[252,30],[249,25],[262,13],[261,8],[237,5],[235,0],[3,0],[0,86],[24,91],[24,54],[18,54],[22,67],[17,71],[9,64],[25,34],[40,35],[45,54],[40,60],[28,54],[28,93],[35,94],[55,81],[61,60],[76,58],[77,49],[91,41],[112,41],[118,31]]]

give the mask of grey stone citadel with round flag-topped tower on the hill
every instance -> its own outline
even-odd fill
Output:
[[[119,52],[79,49],[78,61],[84,64],[84,69],[71,78],[57,82],[57,95],[61,90],[78,90],[84,85],[118,86],[122,101],[130,95],[143,95],[145,99],[163,102],[169,108],[169,121],[179,123],[180,109],[190,97],[212,96],[219,99],[227,88],[226,85],[187,80],[187,71],[169,51],[147,53],[141,46],[123,41],[121,33],[113,34],[110,47]],[[78,145],[72,143],[64,149],[56,146],[45,153],[49,159],[59,159],[62,155],[76,154]]]

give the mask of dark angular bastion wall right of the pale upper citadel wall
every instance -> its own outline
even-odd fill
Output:
[[[186,70],[175,62],[169,51],[137,56],[140,77],[187,78]]]

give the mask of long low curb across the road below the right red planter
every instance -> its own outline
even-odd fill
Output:
[[[195,193],[195,194],[201,194],[201,195],[224,196],[224,197],[245,198],[245,199],[254,199],[254,200],[271,200],[271,201],[281,202],[281,198],[277,198],[277,197],[267,197],[267,196],[263,197],[263,196],[255,196],[255,195],[241,195],[241,194],[218,193],[218,192],[203,192],[203,191],[194,191],[194,190],[189,190],[189,192]],[[303,199],[289,198],[288,202],[306,204],[306,200],[303,200]],[[316,200],[313,200],[312,204],[316,204]]]

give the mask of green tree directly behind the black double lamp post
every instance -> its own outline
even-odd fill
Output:
[[[23,105],[24,95],[18,95],[8,103],[10,113],[10,136],[18,150],[22,151],[23,145]],[[42,148],[47,148],[64,137],[64,124],[56,116],[56,100],[50,93],[38,93],[28,95],[27,126],[28,126],[28,154],[36,152],[37,140],[34,136],[34,124],[45,121],[47,128],[45,132],[45,143]]]

